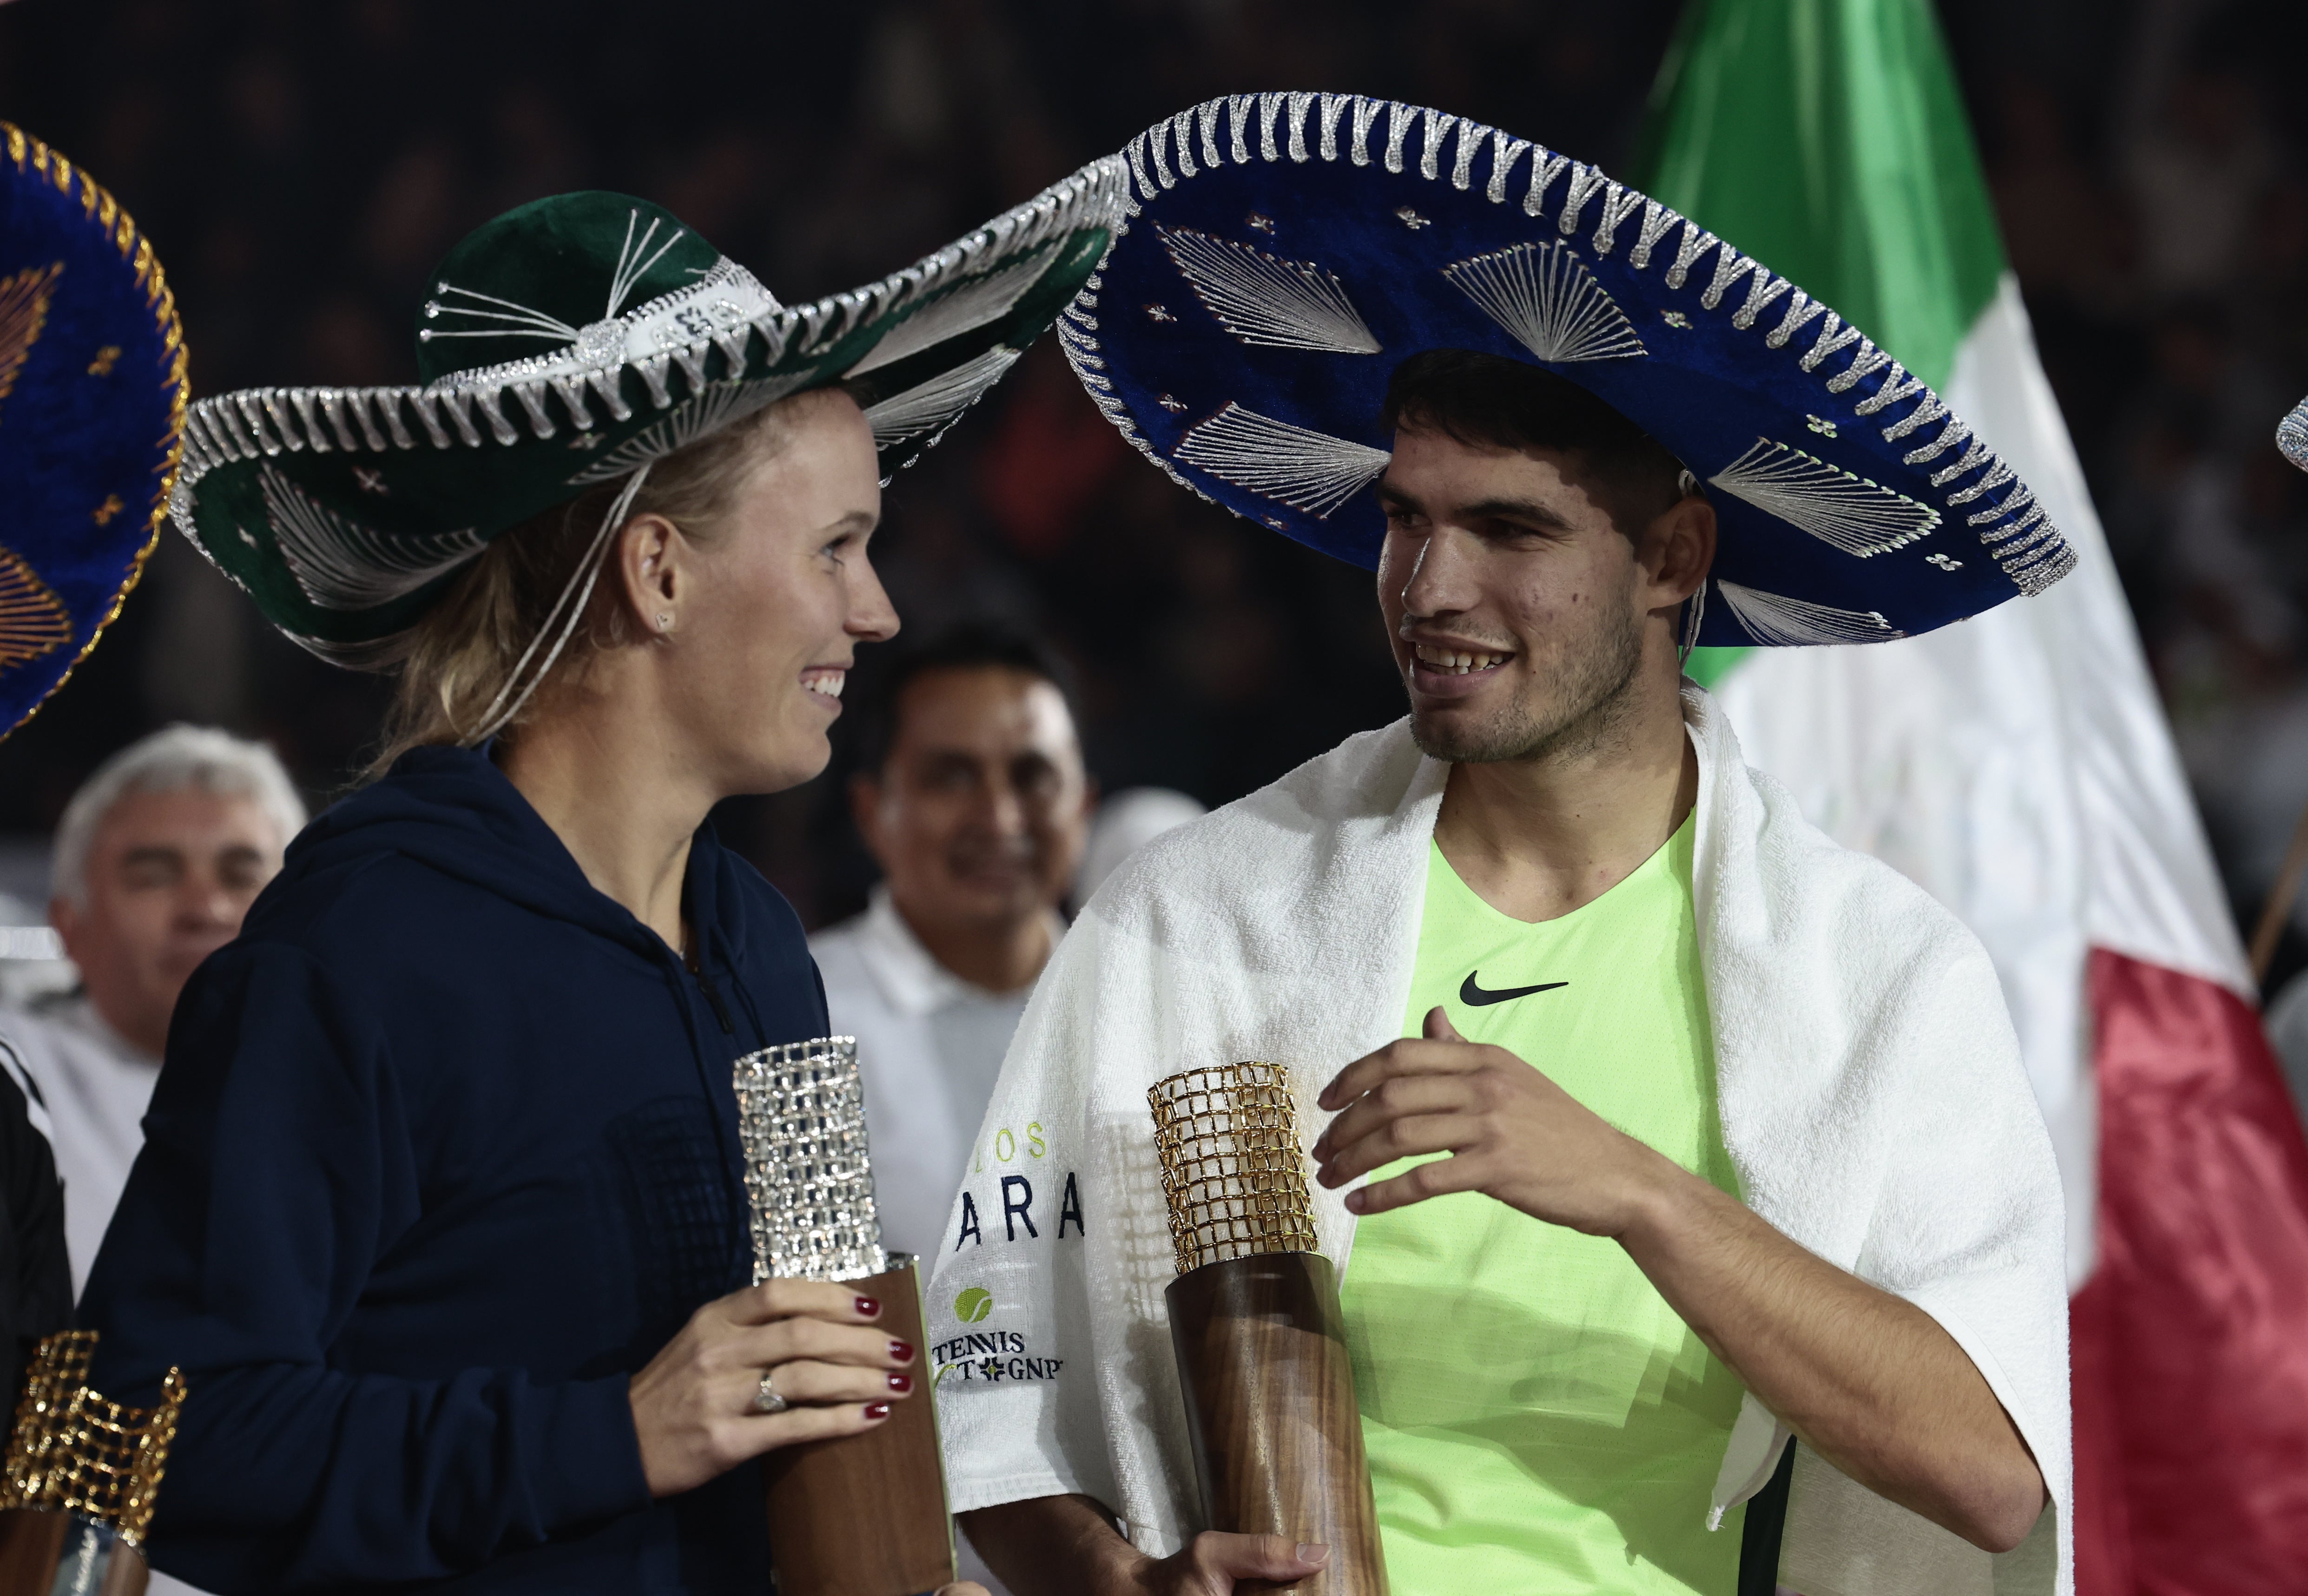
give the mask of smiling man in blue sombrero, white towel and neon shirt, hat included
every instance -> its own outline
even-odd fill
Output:
[[[1994,969],[1680,664],[2073,551],[1835,311],[1528,141],[1267,95],[1129,157],[1076,374],[1376,572],[1410,713],[1147,846],[1043,973],[986,1121],[1039,1162],[972,1167],[930,1289],[986,1561],[1226,1596],[1346,1552],[1221,1534],[1191,1471],[1147,1089],[1256,1059],[1394,1596],[2068,1596],[2063,1213]]]

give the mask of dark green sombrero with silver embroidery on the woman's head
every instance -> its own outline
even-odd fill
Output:
[[[168,514],[291,639],[390,664],[492,537],[787,394],[847,385],[884,480],[909,466],[1057,318],[1126,203],[1108,157],[868,288],[780,304],[660,205],[542,198],[434,272],[420,385],[194,404]]]

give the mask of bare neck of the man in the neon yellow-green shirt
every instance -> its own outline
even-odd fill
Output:
[[[1436,846],[1500,913],[1553,920],[1634,874],[1696,798],[1680,699],[1650,694],[1599,745],[1452,766]]]

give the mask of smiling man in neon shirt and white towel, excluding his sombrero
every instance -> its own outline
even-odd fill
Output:
[[[1717,512],[1666,447],[1468,351],[1401,362],[1382,420],[1408,722],[1154,844],[995,1096],[988,1123],[1082,1167],[1087,1225],[1073,1257],[1062,1227],[988,1236],[1002,1172],[965,1181],[932,1305],[988,1289],[1059,1354],[942,1386],[972,1538],[1020,1594],[1325,1561],[1189,1538],[1122,1483],[1179,1400],[1110,1289],[1145,1273],[1117,1234],[1161,1229],[1145,1084],[1276,1059],[1336,1114],[1322,1239],[1399,1596],[1909,1589],[1851,1578],[1890,1548],[1985,1589],[2038,1522],[2050,1566],[2059,1188],[1985,955],[1812,830],[1683,680]],[[1401,1040],[1352,1047],[1373,994]]]

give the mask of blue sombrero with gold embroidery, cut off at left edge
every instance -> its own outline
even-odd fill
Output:
[[[0,736],[136,586],[175,477],[185,337],[111,194],[0,122]]]

